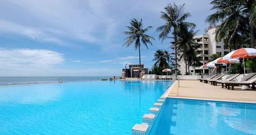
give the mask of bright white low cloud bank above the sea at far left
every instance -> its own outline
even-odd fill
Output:
[[[64,62],[64,54],[43,49],[0,48],[0,67],[22,69],[53,67]]]

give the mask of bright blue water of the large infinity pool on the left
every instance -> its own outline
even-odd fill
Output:
[[[170,81],[0,86],[0,134],[131,135]]]

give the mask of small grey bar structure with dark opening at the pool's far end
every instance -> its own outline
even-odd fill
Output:
[[[144,68],[144,64],[129,64],[129,68],[122,69],[122,79],[140,77],[140,66],[142,67],[141,76],[144,76],[144,74],[148,74],[148,68]]]

